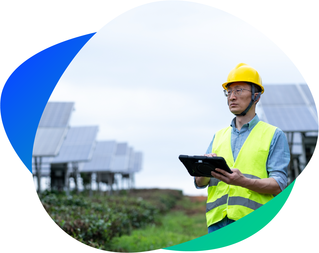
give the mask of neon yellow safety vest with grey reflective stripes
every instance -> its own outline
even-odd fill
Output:
[[[215,134],[211,153],[222,156],[229,168],[237,168],[246,178],[268,178],[266,162],[271,140],[277,127],[259,121],[250,131],[234,162],[231,148],[232,127],[226,127]],[[241,186],[227,185],[211,178],[206,204],[207,226],[222,220],[238,220],[273,198],[272,194],[256,193]]]

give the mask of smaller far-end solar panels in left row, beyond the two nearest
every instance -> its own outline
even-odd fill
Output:
[[[127,143],[99,141],[91,161],[85,162],[81,172],[131,173],[141,167],[142,153],[135,152]]]

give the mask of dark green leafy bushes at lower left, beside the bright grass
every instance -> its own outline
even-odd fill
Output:
[[[67,234],[89,246],[106,249],[115,236],[156,221],[159,210],[138,198],[66,196],[46,192],[41,202]]]

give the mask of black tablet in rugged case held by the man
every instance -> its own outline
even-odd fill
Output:
[[[221,174],[215,170],[216,168],[225,170],[230,174],[233,173],[233,171],[229,169],[225,159],[220,156],[189,156],[181,154],[178,158],[188,170],[189,175],[193,177],[213,178],[211,171]]]

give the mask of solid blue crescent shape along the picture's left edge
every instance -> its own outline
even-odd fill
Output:
[[[65,69],[94,34],[63,41],[33,55],[4,84],[2,124],[14,151],[31,173],[33,142],[44,107]]]

